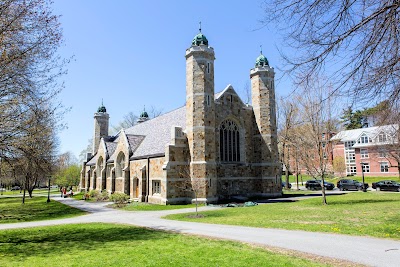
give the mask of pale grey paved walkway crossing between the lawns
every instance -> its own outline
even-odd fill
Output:
[[[105,207],[105,203],[90,203],[69,198],[61,199],[60,197],[54,199],[64,204],[88,211],[90,214],[60,220],[0,224],[0,229],[90,222],[123,223],[178,233],[196,234],[279,247],[351,261],[367,266],[400,266],[399,241],[339,234],[192,223],[161,219],[162,216],[168,214],[192,212],[194,210],[193,208],[152,212],[127,212],[107,208]],[[200,208],[200,210],[212,209],[219,208]]]

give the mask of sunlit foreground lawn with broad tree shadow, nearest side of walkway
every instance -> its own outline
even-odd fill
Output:
[[[0,266],[328,266],[232,241],[114,224],[0,232]]]

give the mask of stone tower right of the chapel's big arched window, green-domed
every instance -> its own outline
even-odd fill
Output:
[[[259,163],[262,178],[276,178],[279,174],[278,138],[275,113],[275,72],[262,54],[250,71],[251,95],[257,131]]]

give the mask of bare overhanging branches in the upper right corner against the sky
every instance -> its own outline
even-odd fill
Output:
[[[290,49],[286,71],[297,84],[323,73],[353,100],[400,100],[398,0],[266,0],[264,23]]]

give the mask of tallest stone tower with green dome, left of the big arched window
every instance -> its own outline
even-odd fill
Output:
[[[197,34],[186,50],[186,132],[192,185],[200,201],[216,200],[214,49]]]

